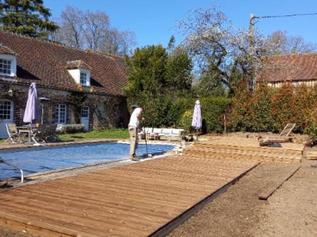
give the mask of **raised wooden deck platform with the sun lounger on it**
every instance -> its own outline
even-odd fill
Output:
[[[189,156],[210,158],[234,158],[238,160],[273,161],[283,163],[301,162],[304,144],[279,143],[280,147],[260,147],[253,138],[214,137],[202,141],[184,151]]]

